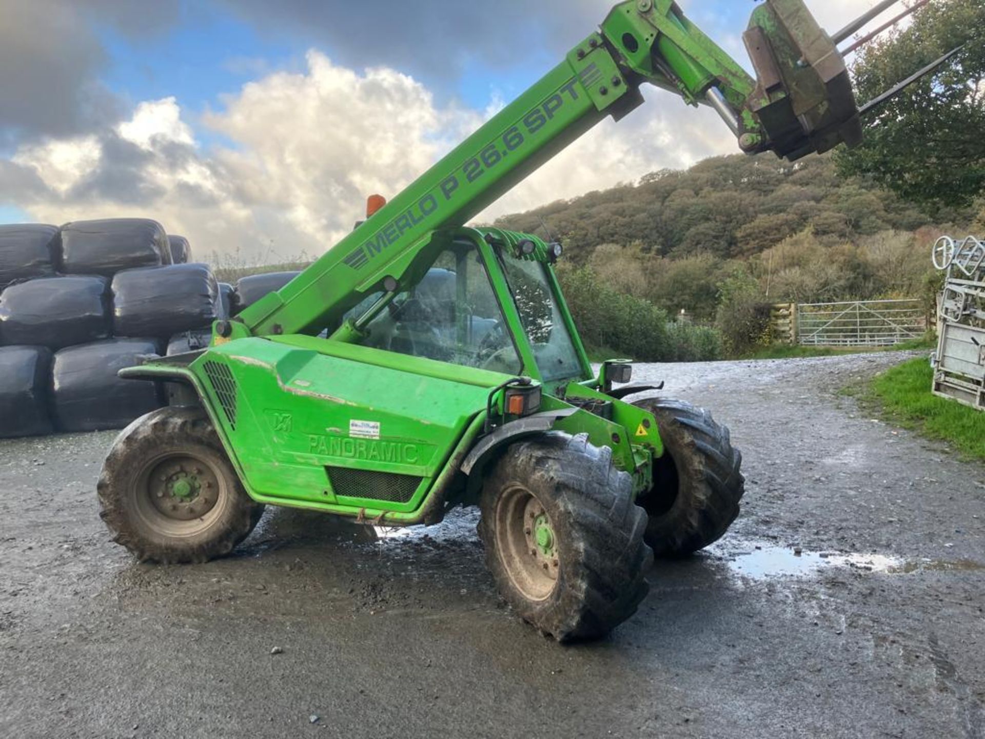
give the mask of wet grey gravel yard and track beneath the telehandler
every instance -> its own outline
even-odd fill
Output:
[[[0,736],[981,737],[985,469],[837,395],[898,361],[640,368],[731,426],[746,505],[573,647],[499,603],[472,512],[268,510],[141,566],[97,512],[113,435],[0,442]]]

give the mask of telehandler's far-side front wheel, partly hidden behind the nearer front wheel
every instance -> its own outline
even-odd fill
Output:
[[[742,453],[704,409],[662,398],[634,405],[656,417],[665,447],[652,489],[636,501],[650,516],[646,543],[657,557],[687,557],[721,539],[738,517]]]

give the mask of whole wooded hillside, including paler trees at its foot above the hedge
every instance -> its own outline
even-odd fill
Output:
[[[496,226],[550,232],[566,247],[566,271],[587,269],[671,315],[684,309],[711,320],[729,281],[771,302],[918,295],[930,244],[942,232],[982,230],[985,204],[931,216],[863,179],[839,177],[830,157],[790,164],[737,155]]]

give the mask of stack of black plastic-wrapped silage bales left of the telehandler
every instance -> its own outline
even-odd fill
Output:
[[[189,256],[143,219],[0,226],[0,437],[121,428],[160,407],[154,383],[116,373],[228,314]]]

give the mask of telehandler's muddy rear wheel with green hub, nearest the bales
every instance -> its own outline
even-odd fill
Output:
[[[99,475],[99,515],[141,562],[228,555],[263,514],[243,489],[205,411],[163,408],[120,433]]]

